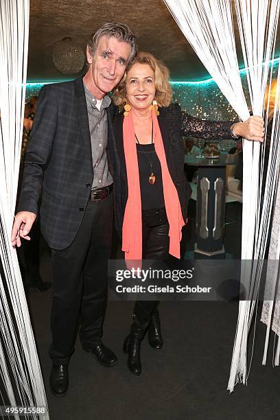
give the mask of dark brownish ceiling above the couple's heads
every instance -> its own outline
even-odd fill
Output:
[[[209,77],[205,67],[180,32],[163,0],[30,0],[28,81],[60,80],[52,51],[62,38],[85,49],[93,30],[106,21],[132,27],[140,50],[149,51],[170,68],[172,80]]]

